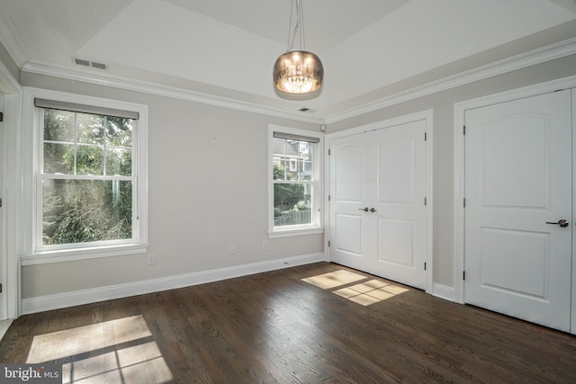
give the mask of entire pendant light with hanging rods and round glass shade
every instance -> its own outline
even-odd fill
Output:
[[[296,22],[293,27],[293,13]],[[296,35],[300,38],[300,49],[293,50]],[[274,65],[275,87],[286,94],[309,94],[320,89],[324,77],[324,67],[320,58],[305,50],[304,13],[302,0],[293,0],[288,30],[288,48],[286,53],[276,59]]]

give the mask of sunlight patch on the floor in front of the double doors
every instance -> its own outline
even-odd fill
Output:
[[[365,307],[409,291],[404,287],[388,281],[368,279],[369,278],[355,272],[339,270],[312,276],[302,279],[302,281],[311,283],[323,290],[332,290],[332,292],[338,296],[354,301]],[[355,282],[357,283],[355,284]]]

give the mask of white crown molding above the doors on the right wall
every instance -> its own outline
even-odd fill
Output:
[[[325,124],[343,121],[368,112],[374,112],[395,104],[408,102],[419,97],[436,94],[461,85],[484,80],[492,76],[502,75],[511,71],[545,63],[556,58],[563,58],[576,54],[576,38],[563,40],[543,48],[533,49],[510,58],[504,58],[493,63],[475,67],[473,69],[446,76],[425,85],[410,88],[406,91],[383,97],[374,102],[366,103],[360,107],[338,112],[326,117]]]

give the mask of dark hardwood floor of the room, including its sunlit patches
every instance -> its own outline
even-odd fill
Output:
[[[576,337],[314,263],[26,315],[0,362],[64,382],[576,382]]]

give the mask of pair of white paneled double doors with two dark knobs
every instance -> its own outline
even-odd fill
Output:
[[[330,261],[426,288],[426,121],[330,141]]]

